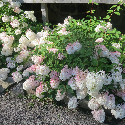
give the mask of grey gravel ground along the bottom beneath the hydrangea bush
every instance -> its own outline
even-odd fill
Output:
[[[32,99],[31,96],[0,96],[0,125],[125,125],[125,119],[107,117],[103,124],[90,111],[77,107],[67,108],[64,101],[51,102]]]

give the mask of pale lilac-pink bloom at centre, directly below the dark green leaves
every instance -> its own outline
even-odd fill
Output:
[[[72,69],[68,69],[68,65],[65,65],[64,68],[61,70],[59,78],[62,81],[69,79],[72,76]]]

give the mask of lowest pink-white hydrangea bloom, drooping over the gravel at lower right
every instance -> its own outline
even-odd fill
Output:
[[[91,112],[96,121],[103,123],[105,121],[105,112],[103,109],[94,110]]]

